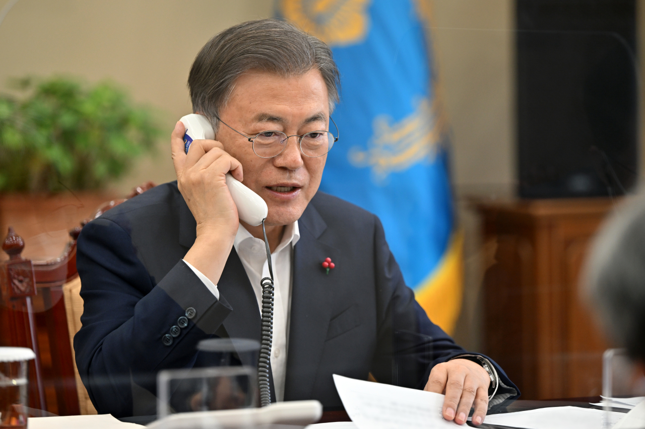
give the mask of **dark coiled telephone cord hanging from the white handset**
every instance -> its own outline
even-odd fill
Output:
[[[260,391],[260,406],[271,403],[271,385],[269,384],[269,365],[271,363],[271,344],[273,342],[273,267],[269,241],[266,239],[264,220],[262,221],[264,246],[266,247],[266,262],[269,266],[269,277],[264,277],[262,285],[262,338],[260,354],[257,362],[257,382]]]

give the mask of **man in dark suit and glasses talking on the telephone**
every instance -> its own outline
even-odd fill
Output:
[[[226,173],[268,205],[273,401],[340,406],[332,374],[372,374],[445,393],[444,417],[457,423],[475,406],[479,424],[489,400],[517,397],[501,368],[430,322],[379,220],[317,192],[338,137],[328,133],[337,81],[328,46],[273,19],[233,26],[197,55],[193,107],[217,140],[184,153],[178,122],[177,182],[106,212],[78,240],[84,312],[74,348],[99,412],[150,414],[156,372],[208,365],[195,348],[202,339],[260,339],[263,231],[239,220]]]

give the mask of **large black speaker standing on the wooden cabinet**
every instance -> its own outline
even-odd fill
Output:
[[[519,196],[637,181],[635,0],[516,0]]]

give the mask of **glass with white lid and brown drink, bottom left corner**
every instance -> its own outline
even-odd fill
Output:
[[[30,348],[0,347],[0,428],[27,427],[27,367]]]

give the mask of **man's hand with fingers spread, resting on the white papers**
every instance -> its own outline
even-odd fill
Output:
[[[489,385],[490,377],[481,365],[457,358],[432,368],[423,390],[446,395],[441,410],[444,419],[464,424],[474,405],[472,421],[481,424],[488,410]]]

